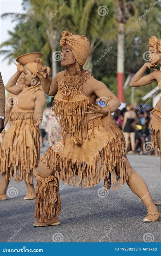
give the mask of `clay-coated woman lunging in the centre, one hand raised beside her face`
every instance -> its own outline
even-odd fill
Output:
[[[39,161],[34,227],[60,224],[56,216],[60,214],[59,179],[76,185],[76,175],[79,187],[92,187],[101,179],[105,190],[127,183],[147,208],[143,221],[158,221],[160,213],[144,180],[130,166],[124,136],[111,119],[111,112],[118,109],[120,101],[105,84],[83,69],[89,40],[85,35],[64,31],[60,45],[61,66],[66,70],[53,80],[42,60],[37,59],[42,88],[48,95],[55,95],[53,108],[62,139],[49,147]],[[103,103],[107,105],[102,107]]]

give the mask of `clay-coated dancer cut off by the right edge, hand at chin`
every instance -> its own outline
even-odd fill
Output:
[[[149,39],[149,61],[133,76],[130,85],[132,87],[144,86],[155,81],[158,82],[158,87],[161,90],[161,67],[157,70],[155,67],[161,65],[161,40],[158,40],[155,35]],[[154,72],[144,76],[147,68],[152,68]],[[155,108],[150,112],[151,119],[151,147],[156,152],[161,148],[161,98],[158,100]],[[161,170],[161,150],[160,150],[160,170]],[[158,200],[156,205],[161,205],[161,200]]]

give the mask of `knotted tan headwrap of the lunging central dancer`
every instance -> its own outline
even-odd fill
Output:
[[[76,59],[76,68],[78,74],[82,74],[79,65],[83,67],[86,62],[89,51],[90,42],[85,35],[74,35],[67,30],[62,32],[62,38],[60,40],[60,46],[65,46],[69,44],[72,48],[72,53]],[[79,65],[78,65],[79,63]]]

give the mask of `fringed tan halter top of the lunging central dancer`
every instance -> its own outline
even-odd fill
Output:
[[[63,142],[65,134],[68,133],[75,144],[82,144],[82,132],[85,133],[84,139],[89,139],[88,128],[93,128],[96,125],[99,126],[101,123],[98,120],[100,118],[89,121],[93,114],[85,113],[87,106],[94,104],[95,100],[81,93],[83,83],[88,78],[88,75],[90,75],[85,70],[82,73],[83,76],[69,76],[65,72],[58,92],[54,97],[54,115],[61,126]]]

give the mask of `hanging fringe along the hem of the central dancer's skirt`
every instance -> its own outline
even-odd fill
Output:
[[[112,185],[112,189],[116,190],[119,185],[122,187],[128,178],[124,149],[124,137],[122,136],[120,140],[118,136],[108,140],[106,145],[94,154],[93,161],[90,164],[85,161],[73,161],[72,158],[62,157],[59,153],[56,154],[53,151],[53,146],[48,148],[41,157],[41,161],[43,160],[49,168],[50,162],[48,160],[52,156],[52,169],[55,171],[55,175],[58,176],[57,158],[59,158],[59,178],[68,185],[73,183],[76,186],[76,175],[78,175],[79,187],[89,188],[104,179],[105,189],[109,189]],[[82,184],[82,180],[84,180],[84,184]]]

